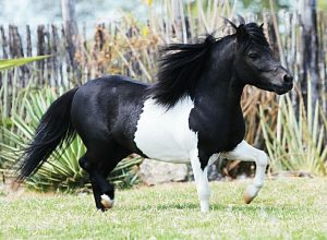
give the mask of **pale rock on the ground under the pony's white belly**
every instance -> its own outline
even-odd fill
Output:
[[[140,165],[138,176],[148,185],[180,182],[187,179],[187,166],[185,164],[169,164],[144,159]]]

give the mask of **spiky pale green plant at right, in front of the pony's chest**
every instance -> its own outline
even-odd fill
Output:
[[[265,119],[261,108],[261,125],[272,171],[292,170],[317,176],[327,175],[327,121],[318,103],[311,103],[310,94],[307,110],[303,99],[300,99],[299,113],[290,96],[281,96],[276,128]]]

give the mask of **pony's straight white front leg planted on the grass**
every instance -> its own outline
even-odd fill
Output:
[[[198,155],[198,151],[193,151],[190,154],[191,165],[193,169],[194,180],[196,184],[197,195],[199,200],[201,212],[207,213],[209,212],[209,197],[210,197],[210,189],[208,182],[208,161],[206,159],[202,159]],[[205,161],[206,165],[202,167],[201,160]]]

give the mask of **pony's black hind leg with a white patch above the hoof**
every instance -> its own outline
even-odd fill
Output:
[[[111,148],[112,149],[112,148]],[[80,158],[81,167],[89,175],[96,207],[105,211],[111,208],[114,200],[113,184],[107,181],[108,175],[113,170],[118,163],[129,155],[124,149],[117,147],[108,154],[101,149],[88,149]]]

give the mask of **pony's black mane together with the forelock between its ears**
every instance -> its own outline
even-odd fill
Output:
[[[239,26],[229,23],[237,33],[218,41],[237,36],[243,51],[246,51],[251,44],[269,46],[263,27],[256,23]],[[213,35],[207,35],[199,44],[171,44],[162,47],[159,50],[158,82],[148,88],[150,96],[167,109],[173,107],[183,96],[189,95],[193,98],[195,84],[203,74],[211,46],[218,41]]]

